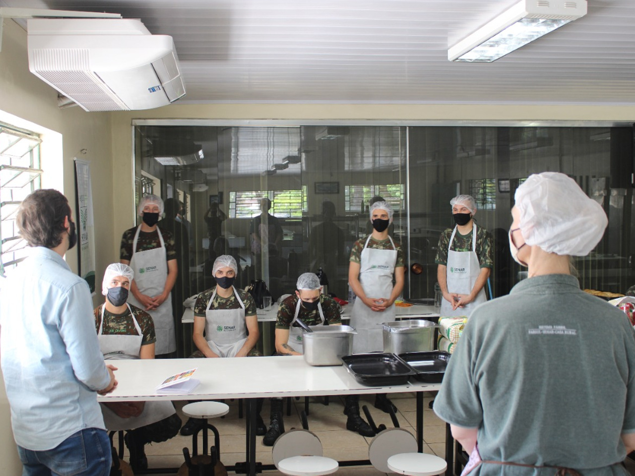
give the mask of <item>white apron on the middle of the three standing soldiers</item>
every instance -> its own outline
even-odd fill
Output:
[[[397,264],[397,249],[392,238],[393,249],[366,248],[370,236],[361,251],[359,263],[359,282],[368,298],[390,299],[392,294],[392,277]],[[366,306],[361,299],[356,299],[351,313],[351,326],[357,335],[353,339],[353,352],[382,352],[384,337],[382,322],[395,320],[395,305],[383,312],[376,312]]]

